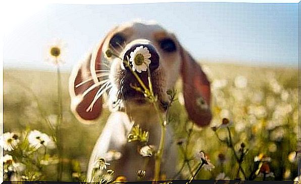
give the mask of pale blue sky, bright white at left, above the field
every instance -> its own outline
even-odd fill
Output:
[[[155,20],[174,32],[201,61],[297,67],[297,4],[156,3],[131,5],[52,4],[7,10],[4,68],[55,69],[47,46],[65,43],[71,71],[115,25]],[[15,19],[14,19],[15,18]]]

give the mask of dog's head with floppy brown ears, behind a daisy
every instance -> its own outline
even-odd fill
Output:
[[[149,51],[148,67],[161,110],[166,111],[169,103],[166,91],[173,88],[181,76],[189,118],[198,126],[208,125],[211,120],[210,82],[206,74],[174,34],[157,24],[139,22],[114,28],[96,50],[73,69],[70,95],[76,117],[83,122],[99,117],[103,108],[101,97],[106,91],[111,110],[150,108],[143,94],[132,87],[139,83],[123,62],[137,47]],[[147,72],[136,73],[148,86]]]

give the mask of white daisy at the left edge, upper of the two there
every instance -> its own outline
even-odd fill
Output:
[[[0,144],[6,151],[12,151],[19,143],[19,136],[15,133],[6,132],[0,137]]]

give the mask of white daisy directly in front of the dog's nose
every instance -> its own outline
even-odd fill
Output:
[[[139,46],[130,53],[130,62],[132,62],[132,69],[135,71],[137,70],[139,73],[141,71],[146,71],[148,65],[150,63],[150,55],[147,47]]]

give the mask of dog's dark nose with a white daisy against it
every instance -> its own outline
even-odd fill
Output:
[[[150,57],[149,57],[149,54]],[[145,68],[150,60],[150,63],[148,65],[150,71],[154,71],[159,67],[159,54],[156,51],[155,47],[152,44],[134,44],[132,45],[124,54],[123,60],[127,61],[130,60],[129,64],[130,67],[133,67],[133,65],[136,65],[136,68]],[[126,64],[123,64],[124,67],[129,70],[128,67],[126,67]],[[144,70],[143,70],[144,71]]]

